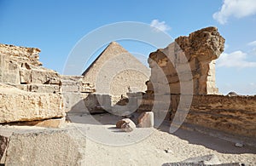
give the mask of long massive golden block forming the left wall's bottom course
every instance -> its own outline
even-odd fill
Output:
[[[64,117],[60,94],[31,93],[0,83],[0,123]]]

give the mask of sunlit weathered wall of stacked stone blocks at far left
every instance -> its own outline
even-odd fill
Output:
[[[61,78],[42,67],[39,52],[0,44],[0,123],[65,117]]]

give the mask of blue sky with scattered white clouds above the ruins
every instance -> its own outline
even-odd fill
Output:
[[[61,73],[80,38],[119,21],[151,24],[174,38],[217,26],[226,39],[217,61],[219,91],[256,94],[256,0],[0,0],[0,43],[39,48],[44,66]],[[154,51],[121,44],[132,53]]]

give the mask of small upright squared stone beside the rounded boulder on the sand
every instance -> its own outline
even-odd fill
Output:
[[[138,117],[139,128],[152,128],[154,127],[154,112],[143,112]]]

